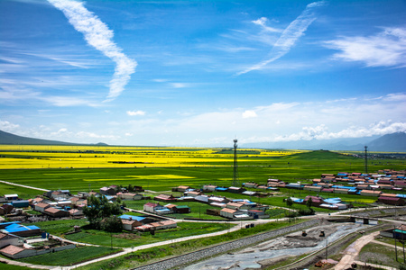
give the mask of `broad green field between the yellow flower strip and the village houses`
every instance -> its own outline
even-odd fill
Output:
[[[193,157],[190,157],[193,159]],[[246,161],[248,160],[249,161]],[[50,190],[69,189],[78,191],[98,190],[110,184],[142,185],[145,189],[161,192],[187,184],[195,188],[204,184],[229,186],[232,184],[232,157],[225,157],[226,166],[216,162],[205,162],[205,166],[162,166],[132,168],[61,168],[61,169],[4,169],[0,180],[26,184]],[[403,159],[373,160],[369,171],[380,169],[404,169]],[[209,166],[208,166],[209,165]],[[246,157],[238,162],[240,183],[265,184],[269,177],[285,182],[309,183],[323,173],[364,172],[364,159],[328,151],[314,151],[282,157]],[[18,187],[2,186],[5,193],[31,195],[36,191]],[[2,192],[3,193],[3,192]]]

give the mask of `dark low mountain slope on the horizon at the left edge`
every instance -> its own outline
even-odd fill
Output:
[[[15,144],[15,145],[89,145],[88,143],[71,143],[60,140],[50,139],[34,139],[14,135],[0,130],[0,144]],[[106,145],[106,143],[99,142],[97,145]]]

